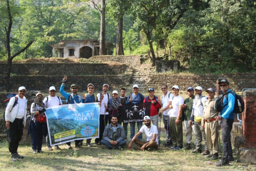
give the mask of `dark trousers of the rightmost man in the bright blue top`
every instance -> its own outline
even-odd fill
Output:
[[[222,130],[222,141],[223,141],[223,157],[228,158],[229,155],[233,155],[230,132],[233,126],[233,119],[223,119],[220,122]]]

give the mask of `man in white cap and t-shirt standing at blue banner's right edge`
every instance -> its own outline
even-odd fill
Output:
[[[103,132],[108,124],[108,101],[110,99],[109,93],[107,92],[109,88],[108,84],[103,84],[102,92],[97,94],[97,98],[100,104],[100,126],[99,126],[99,138],[95,138],[95,144],[101,145],[100,141],[103,139]],[[110,118],[111,120],[111,118]],[[111,121],[109,120],[109,124]]]

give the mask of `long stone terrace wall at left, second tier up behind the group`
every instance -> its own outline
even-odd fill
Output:
[[[125,64],[107,63],[13,63],[13,75],[118,75],[128,68]],[[0,63],[0,73],[7,71],[7,64]]]

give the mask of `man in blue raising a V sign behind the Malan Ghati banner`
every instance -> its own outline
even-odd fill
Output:
[[[63,80],[62,80],[62,84],[60,87],[60,94],[65,97],[68,101],[68,104],[76,104],[76,103],[80,103],[81,102],[81,96],[79,96],[77,94],[78,92],[78,85],[77,84],[72,84],[70,87],[70,91],[72,92],[71,94],[66,93],[64,91],[64,87],[67,81],[67,76],[64,76]],[[80,145],[82,145],[83,140],[75,140],[75,147],[79,148]],[[68,145],[68,149],[72,149],[71,147],[71,142],[67,142],[66,143]]]

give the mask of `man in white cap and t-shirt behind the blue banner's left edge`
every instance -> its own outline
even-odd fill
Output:
[[[62,105],[60,97],[56,96],[55,94],[56,94],[56,88],[54,86],[51,86],[49,88],[49,96],[45,97],[43,100],[45,109]],[[48,131],[47,131],[47,135],[46,135],[46,145],[48,146],[49,151],[53,150],[50,145]],[[57,150],[60,150],[60,147],[58,145],[55,145],[54,148]]]

